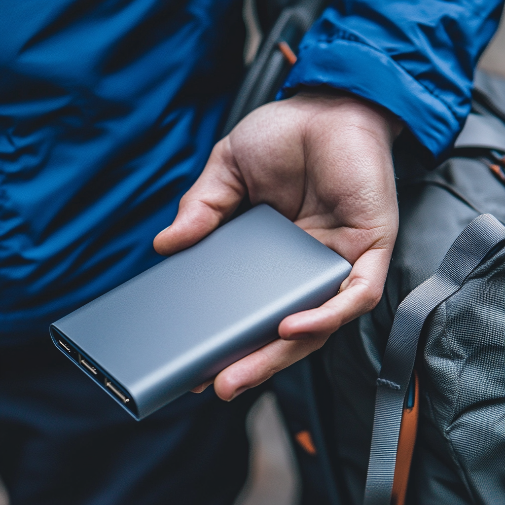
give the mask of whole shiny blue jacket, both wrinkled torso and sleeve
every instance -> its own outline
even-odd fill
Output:
[[[500,0],[337,2],[284,92],[383,105],[435,158],[470,108]],[[242,72],[236,0],[0,0],[0,342],[162,258],[152,239],[203,169]]]

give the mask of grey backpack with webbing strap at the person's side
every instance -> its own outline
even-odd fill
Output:
[[[476,87],[478,101],[456,156],[399,185],[408,229],[400,233],[386,286],[389,309],[397,309],[377,379],[367,505],[391,500],[416,355],[420,423],[408,501],[505,502],[505,227],[499,221],[505,219],[499,117],[505,83],[478,74]],[[434,257],[461,229],[431,275]],[[393,501],[402,496],[393,492]]]

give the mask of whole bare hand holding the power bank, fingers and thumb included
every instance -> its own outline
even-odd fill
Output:
[[[217,375],[222,399],[309,355],[377,305],[398,229],[391,146],[401,127],[358,97],[304,92],[253,111],[215,145],[175,221],[155,238],[160,254],[208,235],[248,192],[252,205],[269,204],[352,264],[339,294],[286,317],[279,339]]]

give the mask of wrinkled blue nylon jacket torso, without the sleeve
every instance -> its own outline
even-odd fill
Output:
[[[13,345],[163,259],[153,238],[219,138],[244,28],[237,0],[0,12],[0,345]]]

